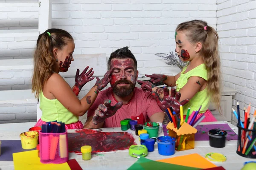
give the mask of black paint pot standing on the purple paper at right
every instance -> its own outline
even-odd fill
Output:
[[[225,147],[227,132],[225,130],[212,129],[208,132],[211,147]]]

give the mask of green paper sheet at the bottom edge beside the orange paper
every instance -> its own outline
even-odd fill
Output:
[[[146,159],[144,157],[140,157],[138,161],[136,161],[131,167],[128,168],[128,170],[152,170],[152,169],[163,169],[168,168],[172,170],[201,170],[201,168],[196,167],[186,167],[182,165],[176,165],[176,164],[168,164],[158,161],[153,161],[150,159]]]

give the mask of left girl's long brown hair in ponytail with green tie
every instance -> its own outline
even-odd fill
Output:
[[[62,29],[52,28],[40,34],[34,53],[34,73],[32,77],[32,93],[39,96],[45,82],[54,72],[56,59],[53,48],[61,50],[73,37]]]

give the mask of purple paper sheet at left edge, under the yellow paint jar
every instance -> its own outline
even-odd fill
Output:
[[[1,141],[1,155],[0,161],[13,161],[12,153],[24,152],[34,149],[22,149],[20,140],[6,140]]]

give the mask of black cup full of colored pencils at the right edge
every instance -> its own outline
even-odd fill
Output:
[[[236,153],[246,158],[256,158],[256,110],[253,116],[250,116],[250,104],[248,108],[244,107],[243,113],[240,111],[239,102],[237,102],[237,112],[232,111],[238,119],[238,140]],[[241,121],[241,114],[244,115],[244,122]]]

